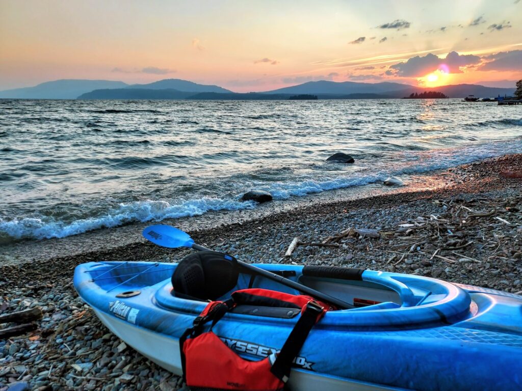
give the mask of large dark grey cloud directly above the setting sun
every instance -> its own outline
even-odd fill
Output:
[[[420,77],[437,69],[444,70],[450,74],[462,73],[461,67],[480,63],[480,57],[472,54],[460,55],[457,52],[450,52],[446,58],[428,53],[425,56],[415,56],[402,62],[390,66],[390,71],[395,76],[401,77]],[[387,75],[390,75],[386,72]]]

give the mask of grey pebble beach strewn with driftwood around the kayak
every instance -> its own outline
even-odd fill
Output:
[[[522,172],[522,155],[452,169],[443,174],[453,185],[435,191],[330,202],[191,234],[245,262],[363,267],[522,294],[522,179],[500,177],[506,170]],[[285,256],[294,238],[299,245]],[[182,387],[109,333],[78,298],[72,274],[82,262],[175,262],[186,253],[134,241],[0,264],[0,314],[43,312],[37,330],[0,341],[0,391]]]

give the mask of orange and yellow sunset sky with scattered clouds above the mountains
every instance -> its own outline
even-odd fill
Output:
[[[165,78],[507,87],[522,78],[522,1],[0,0],[0,90]]]

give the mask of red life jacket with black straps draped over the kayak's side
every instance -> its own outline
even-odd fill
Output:
[[[212,332],[212,327],[238,304],[301,308],[301,316],[279,353],[260,361],[241,358]],[[310,296],[290,295],[266,289],[235,291],[226,302],[212,301],[180,338],[183,376],[193,390],[280,391],[290,376],[310,330],[329,308]],[[205,323],[212,322],[203,333]],[[187,339],[188,338],[188,339]]]

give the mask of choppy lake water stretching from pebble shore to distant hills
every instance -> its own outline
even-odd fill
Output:
[[[355,158],[327,164],[335,152]],[[256,207],[522,152],[518,106],[460,100],[0,100],[0,242]]]

